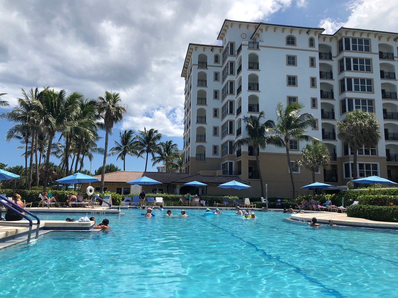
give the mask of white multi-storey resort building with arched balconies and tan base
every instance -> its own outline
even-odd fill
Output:
[[[291,197],[285,149],[232,147],[247,136],[244,116],[264,111],[266,119],[276,120],[278,102],[300,102],[303,112],[317,120],[309,134],[330,151],[332,169],[320,169],[318,182],[341,186],[352,179],[353,152],[337,139],[336,123],[356,108],[375,113],[383,135],[375,148],[359,149],[359,176],[397,180],[398,33],[344,27],[334,34],[323,31],[226,19],[217,37],[221,45],[188,45],[181,73],[186,173],[221,170],[246,181],[251,195],[259,196],[258,154],[268,195]],[[300,159],[305,145],[289,141],[292,162]],[[293,176],[297,192],[308,193],[300,187],[312,182],[310,172],[295,168]]]

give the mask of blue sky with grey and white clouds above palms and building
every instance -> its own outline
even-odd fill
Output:
[[[2,0],[0,93],[13,106],[27,90],[50,86],[97,98],[119,92],[127,114],[119,130],[157,129],[182,149],[184,79],[188,44],[220,44],[224,19],[283,25],[398,32],[391,0]],[[0,108],[0,112],[8,109]],[[24,164],[18,141],[5,142],[12,124],[0,120],[0,163]],[[100,132],[100,135],[104,135]],[[104,146],[104,139],[98,147]],[[21,152],[20,152],[21,151]],[[56,160],[52,160],[59,163]],[[92,169],[102,165],[96,155]],[[107,163],[123,168],[122,161]],[[150,166],[152,162],[148,161]],[[144,159],[127,157],[126,170],[142,171]],[[84,168],[90,169],[85,163]],[[148,167],[155,170],[156,166]]]

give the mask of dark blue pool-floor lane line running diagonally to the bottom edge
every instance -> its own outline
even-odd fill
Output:
[[[202,219],[202,221],[204,221],[204,219]],[[206,222],[209,223],[208,221],[206,221]],[[282,263],[282,264],[284,264],[284,265],[287,265],[287,266],[293,268],[293,271],[295,271],[296,273],[298,273],[299,275],[301,275],[302,277],[304,277],[304,279],[306,279],[307,281],[309,281],[309,282],[311,282],[311,283],[314,283],[314,284],[320,286],[321,288],[324,288],[324,289],[325,289],[325,290],[321,290],[321,292],[327,293],[327,294],[331,294],[331,295],[333,295],[334,297],[337,297],[337,298],[347,298],[347,297],[348,297],[348,296],[343,296],[343,294],[341,294],[338,290],[335,290],[335,289],[333,289],[333,288],[328,288],[326,285],[320,283],[320,282],[317,281],[316,279],[314,279],[314,278],[312,278],[312,277],[309,277],[309,276],[306,275],[306,273],[305,273],[304,271],[302,271],[299,267],[296,267],[296,266],[294,266],[294,265],[291,265],[290,263],[288,263],[288,262],[286,262],[286,261],[282,261],[281,259],[279,259],[279,256],[278,256],[278,257],[273,257],[272,255],[270,255],[269,253],[267,253],[265,250],[263,250],[263,249],[261,249],[261,248],[258,248],[258,247],[256,246],[256,244],[254,244],[254,243],[252,243],[252,242],[249,242],[249,241],[247,241],[247,240],[244,240],[243,238],[241,238],[241,237],[235,235],[234,233],[231,233],[231,232],[229,232],[228,230],[226,230],[226,229],[224,229],[224,228],[221,228],[221,227],[217,226],[217,224],[214,224],[214,223],[210,223],[210,224],[213,225],[213,226],[215,226],[217,229],[223,230],[223,231],[226,232],[227,234],[230,234],[232,237],[237,238],[237,239],[239,239],[240,241],[242,241],[242,242],[244,242],[244,243],[246,243],[246,244],[248,244],[248,245],[250,245],[250,246],[253,246],[257,251],[262,252],[263,255],[265,255],[265,256],[267,257],[267,259],[274,259],[274,260],[278,261],[279,263]]]

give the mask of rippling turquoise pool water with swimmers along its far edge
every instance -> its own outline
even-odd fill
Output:
[[[0,296],[396,295],[397,232],[311,228],[276,212],[257,212],[257,220],[242,220],[233,211],[205,217],[188,210],[188,218],[169,218],[156,210],[151,219],[138,209],[125,212],[106,215],[107,232],[50,232],[1,250]]]

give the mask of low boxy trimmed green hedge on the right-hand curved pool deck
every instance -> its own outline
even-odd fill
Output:
[[[398,222],[398,206],[355,205],[347,207],[347,217],[370,219],[372,221]]]

